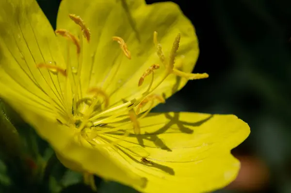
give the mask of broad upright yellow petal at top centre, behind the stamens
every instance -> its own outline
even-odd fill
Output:
[[[126,0],[125,5],[123,2],[125,0],[63,0],[57,19],[57,28],[78,34],[80,28],[68,20],[68,14],[76,14],[90,29],[91,43],[83,43],[81,87],[83,92],[88,87],[103,88],[111,96],[111,104],[122,98],[130,100],[146,90],[151,78],[138,87],[140,77],[149,66],[160,63],[153,43],[154,31],[159,33],[158,40],[166,57],[175,37],[181,33],[177,61],[184,58],[182,71],[193,70],[199,52],[194,27],[175,3],[146,5],[144,0]],[[113,36],[125,40],[131,60],[112,40]],[[161,67],[155,71],[155,82],[162,78],[163,70]],[[154,94],[168,97],[185,83],[185,79],[171,75]]]

